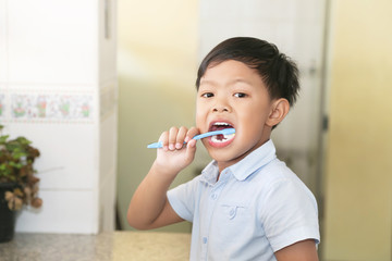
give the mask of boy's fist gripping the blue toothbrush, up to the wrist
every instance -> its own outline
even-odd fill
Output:
[[[192,163],[196,152],[196,140],[192,139],[198,135],[196,127],[171,127],[161,134],[159,141],[162,148],[157,150],[155,165],[160,172],[176,175],[180,171]],[[184,141],[187,142],[184,145]]]

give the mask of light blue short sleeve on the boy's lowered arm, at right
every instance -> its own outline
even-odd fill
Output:
[[[270,186],[262,206],[261,222],[273,251],[294,243],[320,240],[317,202],[302,183],[282,178]]]

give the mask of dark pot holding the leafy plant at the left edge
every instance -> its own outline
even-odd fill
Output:
[[[0,184],[0,243],[10,241],[15,231],[16,211],[11,211],[5,201],[5,191],[12,191],[15,184]]]

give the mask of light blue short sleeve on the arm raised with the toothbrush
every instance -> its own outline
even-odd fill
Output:
[[[182,219],[193,222],[197,199],[198,177],[168,191],[170,206]]]

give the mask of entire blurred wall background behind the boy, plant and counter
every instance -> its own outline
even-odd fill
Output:
[[[391,13],[390,0],[0,0],[0,123],[41,151],[44,206],[19,213],[16,232],[132,231],[147,144],[195,125],[200,61],[253,36],[301,71],[272,139],[317,198],[320,259],[392,260]],[[209,161],[198,146],[172,186]]]

